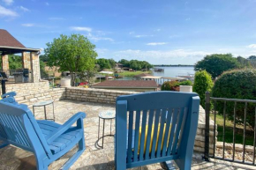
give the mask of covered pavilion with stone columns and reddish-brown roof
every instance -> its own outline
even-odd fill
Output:
[[[2,57],[2,73],[10,75],[8,55],[21,54],[22,68],[19,70],[28,70],[31,73],[31,82],[40,80],[39,48],[26,48],[17,41],[11,33],[0,29],[0,55]],[[23,82],[23,81],[21,81]],[[19,83],[21,83],[19,82]],[[17,83],[17,82],[16,82]]]

